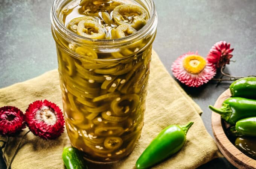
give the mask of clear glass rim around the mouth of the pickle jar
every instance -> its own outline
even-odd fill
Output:
[[[133,33],[132,35],[118,38],[118,39],[91,39],[86,38],[84,36],[77,35],[76,33],[72,32],[71,30],[67,29],[64,24],[61,23],[61,21],[58,18],[57,14],[57,3],[61,0],[54,0],[52,9],[50,12],[50,19],[52,22],[52,26],[55,30],[58,30],[59,33],[62,35],[65,35],[69,38],[70,41],[76,42],[77,44],[85,44],[85,42],[93,43],[93,46],[96,47],[108,47],[108,46],[119,46],[120,44],[131,44],[131,42],[136,41],[137,38],[142,38],[142,35],[147,35],[148,33],[151,33],[151,31],[155,28],[156,29],[156,23],[157,22],[157,13],[155,10],[155,4],[153,0],[146,0],[145,2],[149,3],[149,7],[151,8],[151,11],[149,11],[149,20],[146,23],[145,26],[142,27],[139,31]],[[63,1],[63,0],[62,0]]]

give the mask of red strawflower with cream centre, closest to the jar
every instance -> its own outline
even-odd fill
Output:
[[[47,100],[35,101],[26,110],[25,121],[36,136],[56,139],[64,131],[64,117],[61,109]]]

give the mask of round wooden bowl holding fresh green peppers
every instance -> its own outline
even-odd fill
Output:
[[[230,90],[227,89],[223,92],[219,98],[216,100],[214,107],[220,108],[223,101],[227,98],[231,97]],[[226,128],[224,120],[221,119],[221,116],[215,112],[212,112],[212,132],[215,137],[215,142],[222,152],[224,157],[232,163],[234,166],[239,169],[255,169],[256,168],[256,160],[248,157],[243,154],[239,149],[233,145],[226,134],[224,133],[223,128]]]

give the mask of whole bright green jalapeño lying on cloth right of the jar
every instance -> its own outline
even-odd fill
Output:
[[[136,162],[137,169],[146,169],[179,151],[186,141],[186,134],[194,122],[184,126],[170,125],[152,140]]]

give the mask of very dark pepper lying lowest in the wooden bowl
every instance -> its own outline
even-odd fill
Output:
[[[238,137],[235,142],[236,148],[244,154],[256,160],[256,138],[254,137]]]

